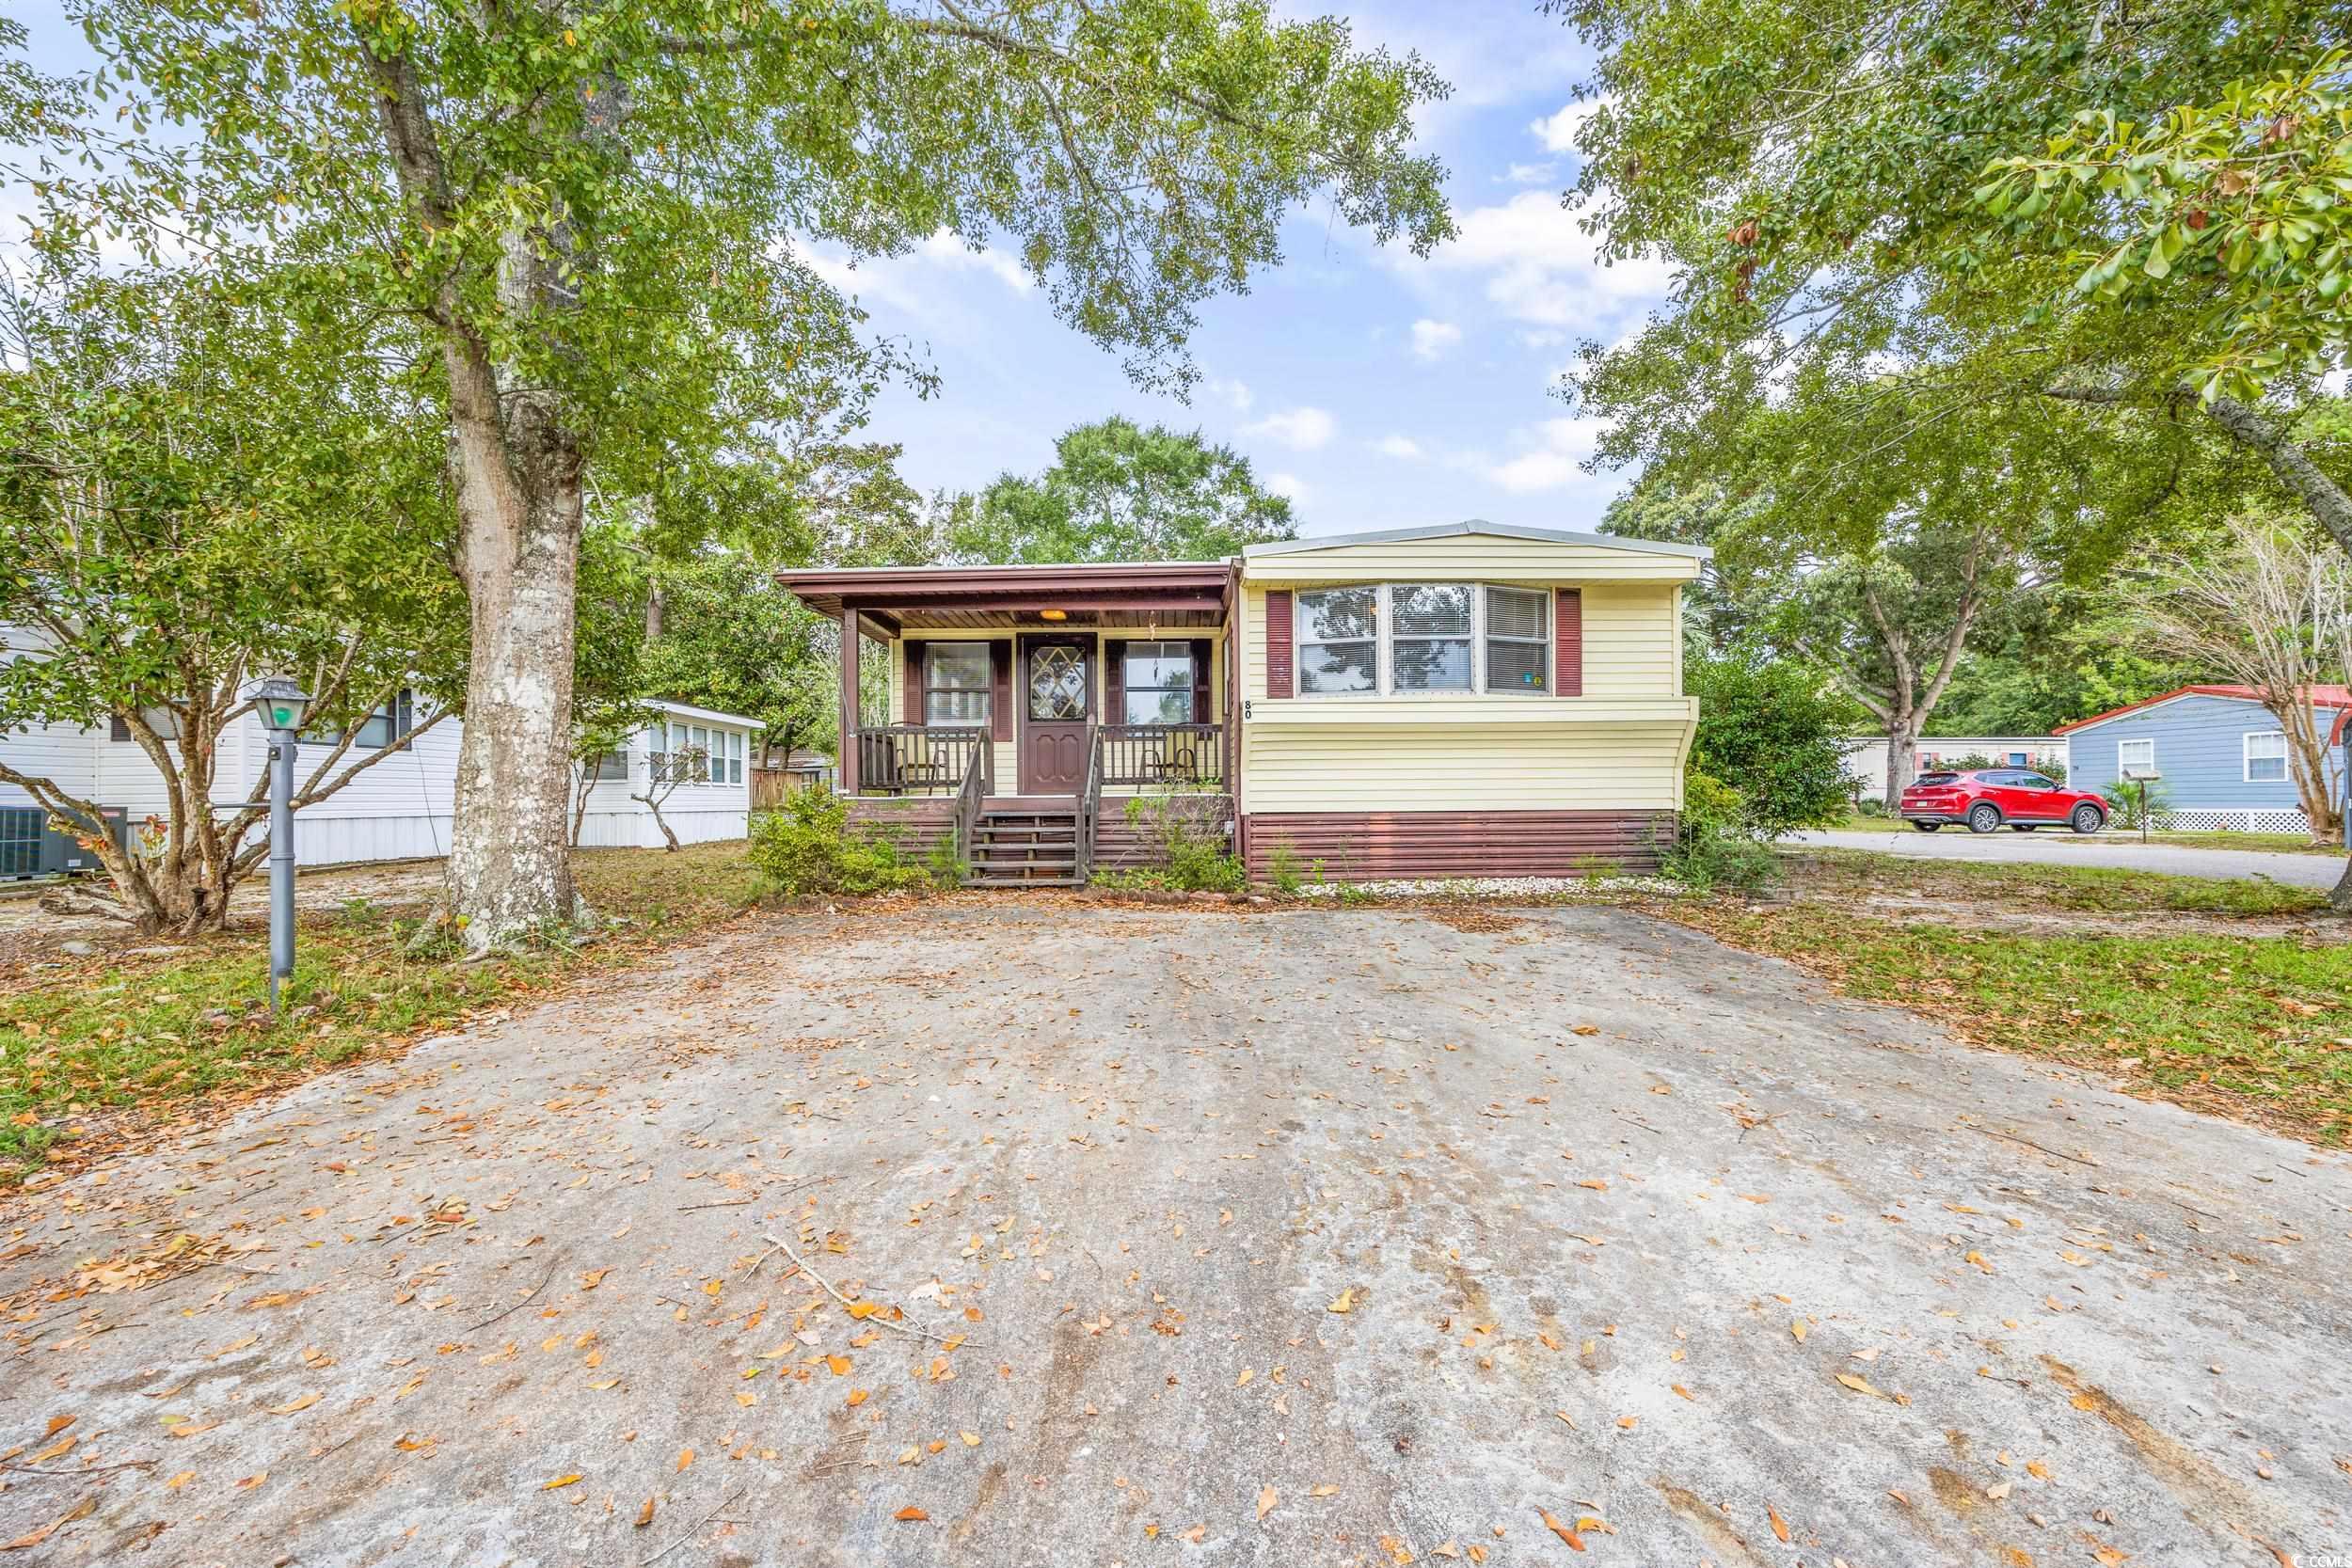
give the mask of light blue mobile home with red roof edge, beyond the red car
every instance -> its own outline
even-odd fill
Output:
[[[2331,738],[2328,790],[2345,799],[2343,729],[2352,691],[2312,686],[2314,726]],[[2067,785],[2112,795],[2124,771],[2157,773],[2169,827],[2307,832],[2286,762],[2286,733],[2253,686],[2180,686],[2131,708],[2060,724]],[[2159,818],[2161,820],[2161,818]]]

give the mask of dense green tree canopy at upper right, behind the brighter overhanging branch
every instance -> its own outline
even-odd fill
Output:
[[[2199,287],[2084,294],[2086,235],[2119,244],[2133,209],[2058,202],[2056,167],[2023,172],[2025,197],[2002,186],[2013,200],[1999,214],[1987,188],[2002,160],[2046,150],[2086,110],[2147,125],[2281,56],[2324,56],[2343,33],[2336,7],[2291,0],[2260,26],[2227,0],[2126,14],[2096,0],[1858,0],[1835,21],[1790,0],[1548,9],[1599,49],[1569,200],[1606,259],[1665,259],[1682,275],[1668,310],[1618,348],[1592,346],[1569,378],[1609,421],[1604,461],[1698,482],[1776,388],[1813,376],[1816,421],[1849,465],[1870,468],[1884,449],[1865,428],[1898,369],[1919,428],[1983,409],[2098,421],[2143,442],[2159,458],[2143,487],[2176,498],[2161,451],[2225,447],[2190,463],[2237,468],[2199,496],[2209,515],[2253,484],[2300,501],[2352,548],[2345,463],[2305,423],[2319,400],[2307,355],[2288,355],[2263,402],[2227,388],[2199,400],[2187,376],[2227,336],[2218,322],[2258,310],[2230,310],[2206,287],[2211,268],[2192,268]],[[2053,226],[2053,214],[2072,216]]]

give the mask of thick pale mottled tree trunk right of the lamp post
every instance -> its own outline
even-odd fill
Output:
[[[501,418],[480,346],[447,346],[449,465],[473,604],[449,910],[485,952],[579,914],[572,889],[572,597],[581,451],[524,395]]]

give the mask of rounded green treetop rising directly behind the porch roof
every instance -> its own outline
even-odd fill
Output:
[[[1044,473],[957,496],[948,524],[957,559],[1009,567],[1214,562],[1296,536],[1291,503],[1258,484],[1247,456],[1122,416],[1070,425]]]

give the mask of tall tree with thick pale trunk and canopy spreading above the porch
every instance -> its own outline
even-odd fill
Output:
[[[847,310],[800,244],[1002,240],[1136,381],[1185,386],[1197,306],[1279,261],[1296,205],[1421,252],[1451,230],[1442,169],[1411,150],[1442,82],[1263,0],[80,14],[92,89],[127,99],[106,122],[176,127],[139,169],[59,169],[49,226],[266,249],[430,343],[473,616],[447,879],[475,950],[576,912],[586,489],[642,491],[873,374],[833,353]]]

